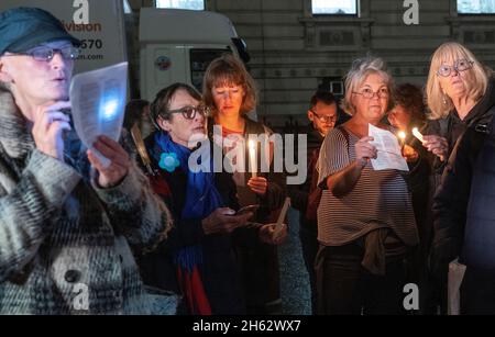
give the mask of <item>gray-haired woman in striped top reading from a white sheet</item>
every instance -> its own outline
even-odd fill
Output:
[[[342,108],[351,120],[331,131],[319,158],[316,260],[320,314],[400,314],[405,261],[418,244],[406,181],[398,170],[375,171],[369,124],[382,124],[392,77],[380,58],[355,60]]]

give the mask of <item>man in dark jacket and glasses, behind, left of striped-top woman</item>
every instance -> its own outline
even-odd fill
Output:
[[[302,184],[287,187],[292,206],[299,211],[299,238],[302,248],[305,266],[309,274],[311,289],[311,311],[316,313],[316,277],[315,258],[318,252],[318,224],[316,211],[321,196],[317,187],[318,172],[316,165],[320,154],[321,143],[338,120],[337,101],[329,91],[318,90],[310,100],[308,119],[311,122],[306,127],[308,175]],[[316,177],[315,177],[316,175]]]

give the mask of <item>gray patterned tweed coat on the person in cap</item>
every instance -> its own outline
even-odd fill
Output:
[[[170,216],[133,167],[99,189],[77,136],[65,162],[38,151],[0,90],[0,314],[150,314],[130,246],[165,237]]]

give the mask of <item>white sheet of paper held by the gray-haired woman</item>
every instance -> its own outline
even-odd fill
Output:
[[[397,137],[392,132],[372,124],[369,124],[369,136],[374,138],[371,144],[378,150],[377,158],[371,160],[373,169],[375,171],[389,169],[409,171],[406,159],[400,154]]]

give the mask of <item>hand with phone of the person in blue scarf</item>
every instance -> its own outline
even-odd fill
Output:
[[[253,212],[235,215],[234,210],[220,207],[202,220],[202,231],[206,235],[215,233],[232,233],[235,228],[245,225],[248,220],[253,215]]]

